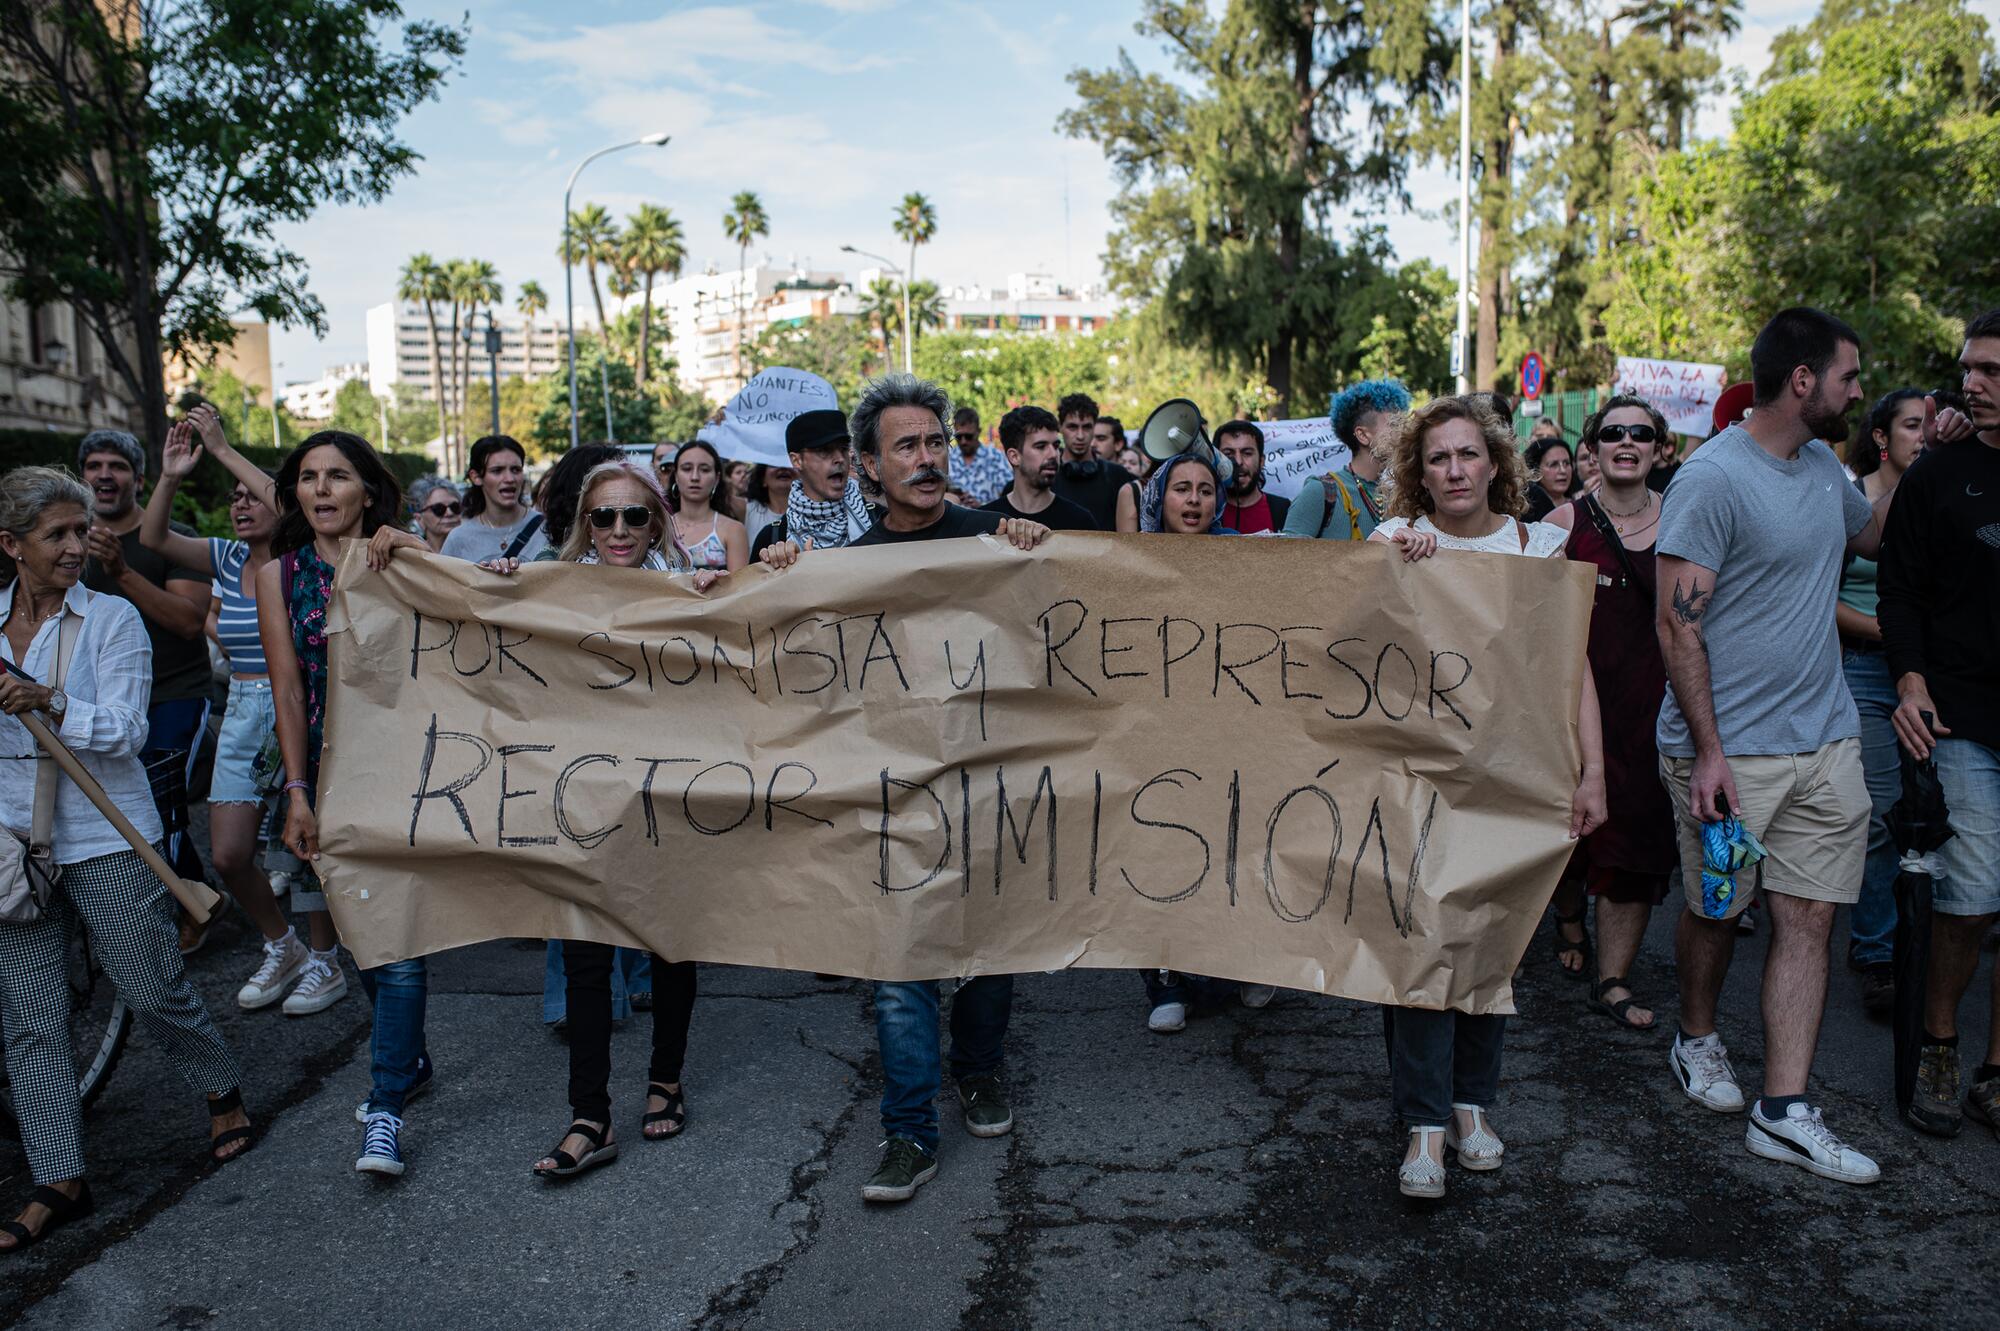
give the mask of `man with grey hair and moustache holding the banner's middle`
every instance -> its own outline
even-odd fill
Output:
[[[848,430],[868,478],[882,488],[884,510],[856,546],[984,534],[1016,550],[1034,550],[1048,538],[1040,522],[944,500],[948,416],[944,390],[912,374],[888,374],[862,390]],[[800,544],[780,542],[764,550],[764,564],[792,568],[800,554]],[[874,1007],[884,1141],[882,1163],[862,1185],[862,1201],[908,1201],[938,1173],[938,1087],[944,1077],[938,1061],[938,981],[878,981]],[[974,975],[952,995],[952,1081],[958,1083],[966,1131],[974,1137],[998,1137],[1014,1127],[1000,1081],[1012,1009],[1012,975]]]

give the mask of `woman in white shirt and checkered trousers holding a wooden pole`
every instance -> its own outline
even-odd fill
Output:
[[[0,677],[0,823],[26,833],[34,821],[36,741],[18,719],[38,711],[76,749],[140,835],[158,839],[160,815],[138,753],[146,747],[152,648],[138,608],[84,590],[90,492],[56,468],[14,468],[0,476],[0,654],[36,681]],[[64,624],[80,628],[54,687]],[[82,1107],[70,1049],[70,989],[64,975],[64,915],[90,929],[104,973],[118,985],[146,1033],[208,1097],[208,1151],[216,1161],[252,1141],[238,1093],[240,1069],[208,1019],[180,961],[166,883],[126,845],[90,797],[68,777],[56,781],[56,899],[32,923],[0,923],[0,1011],[6,1071],[20,1119],[34,1191],[0,1221],[0,1253],[40,1241],[50,1227],[92,1211],[84,1181]]]

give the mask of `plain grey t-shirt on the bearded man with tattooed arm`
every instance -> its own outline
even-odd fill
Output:
[[[1826,444],[1780,462],[1742,426],[1702,444],[1666,488],[1658,552],[1716,572],[1702,642],[1724,753],[1810,753],[1860,733],[1834,596],[1868,516]],[[1694,757],[1674,689],[1658,739],[1662,753]]]

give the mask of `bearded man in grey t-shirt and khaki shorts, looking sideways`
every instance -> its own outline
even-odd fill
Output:
[[[1750,348],[1756,410],[1682,464],[1662,502],[1656,560],[1656,628],[1672,683],[1660,707],[1660,771],[1686,893],[1674,939],[1680,1031],[1668,1065],[1698,1105],[1744,1109],[1716,1001],[1736,915],[1758,897],[1772,925],[1764,1095],[1750,1107],[1744,1145],[1842,1183],[1882,1177],[1806,1099],[1834,907],[1860,899],[1868,849],[1860,713],[1840,671],[1834,596],[1842,550],[1872,560],[1882,522],[1820,442],[1860,402],[1860,338],[1830,314],[1772,316]],[[1876,508],[1886,506],[1888,496]],[[1704,837],[1728,817],[1762,843],[1758,867],[1736,869],[1742,837]],[[1722,859],[1706,873],[1704,851]]]

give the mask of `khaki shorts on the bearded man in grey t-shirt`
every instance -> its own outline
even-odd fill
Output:
[[[1702,823],[1688,813],[1692,757],[1660,755],[1660,779],[1674,799],[1680,887],[1702,915]],[[1836,739],[1812,753],[1754,753],[1730,759],[1744,827],[1764,843],[1754,881],[1738,879],[1726,917],[1762,891],[1852,905],[1862,895],[1868,857],[1868,777],[1862,741]]]

